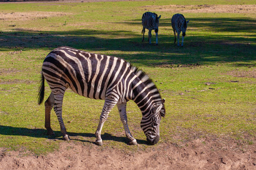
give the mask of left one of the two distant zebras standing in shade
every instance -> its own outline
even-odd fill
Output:
[[[159,17],[157,17],[156,13],[152,13],[152,12],[145,12],[142,15],[141,21],[142,21],[142,32],[143,33],[143,38],[142,38],[142,42],[144,41],[144,34],[145,34],[145,28],[148,29],[148,42],[149,44],[151,44],[151,31],[155,30],[155,36],[156,36],[156,45],[158,44],[158,26],[159,26],[159,19],[161,18],[161,15]]]

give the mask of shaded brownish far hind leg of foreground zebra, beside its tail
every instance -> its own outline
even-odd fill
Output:
[[[45,102],[45,127],[47,129],[47,135],[54,135],[54,131],[51,128],[51,110],[54,106],[54,94],[51,93]]]

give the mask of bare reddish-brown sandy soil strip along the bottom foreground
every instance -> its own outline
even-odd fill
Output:
[[[208,137],[186,144],[160,143],[135,151],[63,142],[60,150],[36,156],[0,148],[0,170],[255,170],[256,145]]]

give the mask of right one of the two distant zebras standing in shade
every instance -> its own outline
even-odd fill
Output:
[[[180,34],[182,32],[182,46],[183,46],[183,40],[184,36],[186,35],[187,30],[187,24],[189,23],[189,20],[186,21],[185,17],[182,14],[174,14],[172,17],[172,27],[174,30],[174,44],[176,42],[176,33],[178,38],[178,46],[180,45]]]

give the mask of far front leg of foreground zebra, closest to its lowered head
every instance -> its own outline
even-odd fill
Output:
[[[127,114],[126,114],[126,103],[117,104],[117,107],[119,110],[120,119],[124,125],[125,135],[129,139],[129,144],[131,144],[131,145],[137,144],[136,139],[134,137],[132,137],[129,127],[128,127]]]

